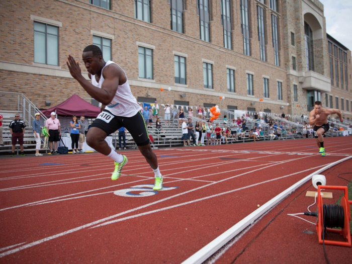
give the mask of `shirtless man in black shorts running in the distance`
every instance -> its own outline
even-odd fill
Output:
[[[317,133],[315,138],[317,139],[317,144],[319,147],[319,153],[322,156],[325,156],[325,148],[324,148],[324,133],[329,131],[329,124],[327,123],[327,116],[337,114],[340,118],[340,122],[343,122],[343,118],[341,116],[340,110],[338,109],[324,109],[321,106],[320,101],[316,101],[314,103],[314,109],[310,111],[309,114],[309,125],[313,126],[313,130]]]

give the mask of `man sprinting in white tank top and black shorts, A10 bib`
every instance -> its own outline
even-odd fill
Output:
[[[68,55],[67,59],[72,77],[90,96],[102,103],[102,112],[89,129],[86,142],[95,150],[115,160],[111,180],[119,179],[122,167],[127,163],[127,157],[112,150],[105,138],[120,127],[125,127],[155,173],[153,190],[161,190],[162,175],[157,158],[150,147],[148,131],[139,111],[140,106],[131,93],[125,71],[115,62],[110,60],[105,62],[101,49],[95,45],[86,46],[82,53],[84,66],[92,83],[82,76],[78,62],[71,55]]]

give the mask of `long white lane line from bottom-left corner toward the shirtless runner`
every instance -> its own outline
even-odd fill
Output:
[[[311,157],[311,156],[305,156],[305,157],[296,158],[296,159],[293,159],[293,160],[303,159],[303,158],[307,158],[307,157]],[[287,161],[287,162],[288,162],[288,161]],[[286,162],[282,162],[282,163],[286,163]],[[70,234],[70,233],[79,231],[79,230],[84,229],[84,228],[86,228],[86,227],[91,227],[91,226],[100,224],[100,223],[102,223],[102,222],[106,222],[106,221],[108,221],[108,220],[110,220],[110,219],[119,217],[119,216],[121,216],[121,215],[128,214],[128,213],[137,211],[137,210],[139,210],[139,209],[143,209],[143,208],[149,207],[149,206],[151,206],[151,205],[158,204],[158,203],[161,203],[161,202],[170,200],[170,199],[172,199],[172,198],[179,197],[179,196],[181,196],[181,195],[188,194],[188,193],[191,193],[191,192],[194,192],[194,191],[203,189],[203,188],[205,188],[205,187],[208,187],[208,186],[211,186],[211,185],[214,185],[214,184],[217,184],[217,183],[221,183],[221,182],[224,182],[224,181],[227,181],[227,180],[230,180],[230,179],[239,177],[239,176],[244,175],[244,174],[252,173],[252,172],[255,172],[255,171],[258,171],[258,170],[261,170],[261,169],[265,169],[265,168],[269,168],[269,167],[272,167],[272,166],[275,166],[275,165],[279,165],[279,164],[282,164],[282,163],[275,163],[275,164],[268,165],[268,166],[263,167],[263,168],[254,169],[254,170],[251,170],[251,171],[248,171],[248,172],[239,174],[239,175],[235,175],[235,176],[233,176],[233,177],[230,177],[230,178],[227,178],[227,179],[224,179],[224,180],[220,180],[220,181],[218,181],[218,182],[216,182],[216,183],[211,183],[211,184],[208,184],[208,185],[205,185],[205,186],[201,186],[201,187],[198,187],[198,188],[195,188],[195,189],[192,189],[192,190],[189,190],[189,191],[186,191],[186,192],[177,194],[177,195],[173,195],[173,196],[170,196],[170,197],[166,197],[166,198],[164,198],[164,199],[161,199],[161,200],[158,200],[158,201],[154,201],[154,202],[152,202],[152,203],[145,204],[145,205],[142,205],[142,206],[139,206],[139,207],[136,207],[136,208],[133,208],[133,209],[130,209],[130,210],[127,210],[127,211],[124,211],[124,212],[121,212],[121,213],[112,215],[112,216],[108,216],[108,217],[102,218],[102,219],[100,219],[100,220],[94,221],[94,222],[92,222],[92,223],[85,224],[85,225],[82,225],[82,226],[79,226],[79,227],[76,227],[76,228],[73,228],[73,229],[70,229],[70,230],[67,230],[67,231],[58,233],[58,234],[56,234],[56,235],[49,236],[49,237],[46,237],[46,238],[37,240],[37,241],[35,241],[35,242],[32,242],[32,243],[29,243],[29,244],[20,246],[20,247],[18,247],[18,248],[12,249],[12,250],[8,250],[8,251],[6,251],[6,252],[4,252],[4,253],[1,253],[1,254],[0,254],[0,257],[4,257],[4,256],[6,256],[6,255],[9,255],[9,254],[12,254],[12,253],[16,253],[16,252],[18,252],[18,251],[20,251],[20,250],[23,250],[23,249],[26,249],[26,248],[29,248],[29,247],[32,247],[32,246],[41,244],[41,243],[43,243],[43,242],[46,242],[46,241],[55,239],[55,238],[57,238],[57,237],[61,237],[61,236],[64,236],[64,235],[67,235],[67,234]]]

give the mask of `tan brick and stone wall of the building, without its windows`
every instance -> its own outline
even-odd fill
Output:
[[[157,98],[159,103],[187,101],[192,106],[203,103],[217,104],[221,108],[237,106],[270,109],[272,112],[302,114],[307,112],[306,90],[302,89],[300,74],[305,71],[304,16],[302,0],[279,1],[279,12],[256,0],[248,0],[251,56],[243,54],[240,1],[231,1],[232,50],[223,45],[223,27],[219,1],[210,1],[210,43],[200,40],[200,22],[197,1],[184,0],[184,34],[170,29],[170,5],[166,0],[151,1],[151,23],[134,17],[134,1],[111,0],[111,10],[89,4],[89,0],[4,0],[0,3],[2,31],[0,31],[0,91],[25,94],[39,108],[61,103],[76,93],[90,96],[69,75],[68,54],[81,61],[81,52],[93,43],[93,35],[112,38],[112,60],[127,73],[134,96]],[[269,5],[269,1],[266,4]],[[320,9],[317,1],[308,1]],[[313,5],[314,3],[314,5]],[[266,57],[261,61],[257,29],[257,5],[265,10]],[[278,17],[280,66],[274,63],[271,14]],[[58,25],[59,65],[34,63],[34,21]],[[329,76],[325,24],[323,38],[314,42],[317,72]],[[97,33],[98,32],[98,33]],[[295,46],[291,45],[291,32],[295,33]],[[138,76],[138,46],[153,49],[153,79]],[[187,84],[174,82],[174,53],[187,54]],[[323,55],[325,54],[325,55]],[[296,56],[296,71],[292,71],[292,55]],[[348,59],[351,54],[348,51]],[[213,89],[203,87],[203,61],[213,62]],[[82,63],[81,68],[87,78]],[[350,64],[348,64],[350,69]],[[227,92],[226,68],[235,69],[235,93]],[[254,96],[247,96],[246,73],[253,73]],[[263,76],[269,76],[270,98],[263,102]],[[277,81],[282,81],[283,100],[278,100]],[[293,100],[293,83],[299,86],[298,102]],[[350,85],[352,81],[349,82]],[[164,91],[160,92],[163,87]],[[171,87],[171,92],[167,91]],[[186,93],[186,97],[181,94]],[[224,96],[225,100],[220,100]],[[352,96],[344,96],[352,99]],[[254,106],[252,104],[254,102]],[[299,105],[299,107],[297,107]]]

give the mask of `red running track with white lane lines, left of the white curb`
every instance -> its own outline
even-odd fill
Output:
[[[351,155],[352,137],[325,148],[321,157],[314,139],[301,139],[157,149],[160,192],[138,151],[114,182],[99,153],[2,158],[0,262],[180,263],[257,204]]]

